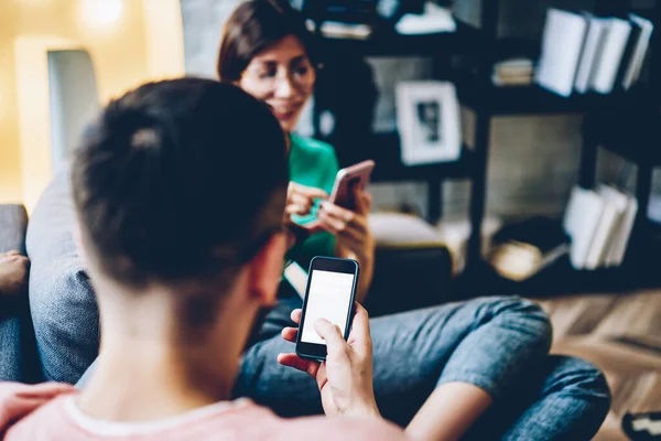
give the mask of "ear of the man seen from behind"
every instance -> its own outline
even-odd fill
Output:
[[[250,265],[250,293],[263,305],[275,303],[278,287],[282,280],[282,266],[286,252],[284,233],[273,235],[260,249]]]

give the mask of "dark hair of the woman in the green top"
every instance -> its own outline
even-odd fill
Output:
[[[223,82],[238,82],[260,52],[288,35],[303,44],[313,66],[315,37],[305,26],[305,19],[286,0],[249,0],[239,4],[223,29],[216,69]]]

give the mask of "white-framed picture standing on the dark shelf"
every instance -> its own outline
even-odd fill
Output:
[[[404,164],[459,159],[459,105],[452,83],[403,82],[397,86],[395,101]]]

